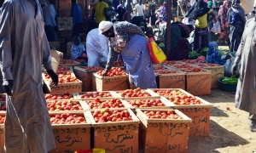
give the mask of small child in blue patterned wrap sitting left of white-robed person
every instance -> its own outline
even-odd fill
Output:
[[[73,45],[71,47],[71,59],[87,59],[84,45],[80,43],[79,37],[73,37]]]

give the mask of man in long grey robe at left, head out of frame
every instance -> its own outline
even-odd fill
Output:
[[[4,151],[47,153],[55,138],[42,88],[42,65],[58,84],[52,70],[40,3],[5,1],[0,17],[0,64],[7,111]],[[3,144],[3,142],[1,142]]]

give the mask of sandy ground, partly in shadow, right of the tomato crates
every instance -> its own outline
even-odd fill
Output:
[[[189,137],[189,153],[256,152],[256,133],[249,132],[248,113],[236,109],[235,94],[212,89],[211,95],[200,97],[213,104],[210,134],[208,137]]]

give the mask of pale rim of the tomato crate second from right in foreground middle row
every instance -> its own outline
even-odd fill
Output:
[[[144,99],[147,99],[147,98],[144,98]],[[131,100],[137,100],[137,99],[123,99],[122,100],[122,103],[125,105],[125,108],[130,108],[132,111],[134,111],[134,110],[137,110],[137,109],[171,109],[171,106],[173,106],[172,105],[172,103],[168,100],[168,99],[166,99],[166,98],[164,98],[164,97],[161,97],[160,98],[160,101],[161,101],[161,103],[163,103],[165,106],[152,106],[152,107],[149,107],[149,106],[143,106],[143,107],[135,107],[135,106],[133,106],[133,105],[131,105],[129,102],[131,101]],[[152,99],[152,100],[154,100],[154,99]]]

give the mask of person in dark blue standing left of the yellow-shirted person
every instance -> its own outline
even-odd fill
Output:
[[[72,0],[72,16],[73,16],[73,37],[79,37],[79,33],[84,25],[82,11],[76,0]]]

